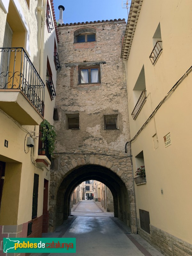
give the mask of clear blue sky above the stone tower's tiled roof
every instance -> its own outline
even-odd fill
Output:
[[[123,0],[123,2],[126,2]],[[122,8],[122,0],[53,0],[56,20],[59,19],[59,5],[65,7],[63,23],[94,20],[123,19],[127,21],[127,9]]]

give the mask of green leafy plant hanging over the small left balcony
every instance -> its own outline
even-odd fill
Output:
[[[45,140],[47,141],[49,154],[52,155],[55,150],[55,140],[57,136],[56,128],[55,126],[51,125],[47,120],[44,120],[40,124],[40,129],[42,131],[41,140],[43,142],[45,142]]]

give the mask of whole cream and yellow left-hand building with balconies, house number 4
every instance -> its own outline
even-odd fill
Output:
[[[1,240],[39,237],[48,228],[51,158],[39,124],[53,124],[59,68],[53,10],[50,0],[0,1]]]

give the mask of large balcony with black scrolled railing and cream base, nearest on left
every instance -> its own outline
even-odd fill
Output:
[[[21,125],[44,118],[44,83],[25,50],[0,48],[0,108]]]

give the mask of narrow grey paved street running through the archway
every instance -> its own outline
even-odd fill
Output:
[[[106,212],[100,202],[81,201],[74,205],[69,220],[54,233],[43,237],[76,237],[76,256],[161,256],[154,247],[139,235],[130,234],[130,228],[112,212]],[[54,253],[31,254],[33,256],[53,256]],[[60,256],[57,253],[57,256]]]

